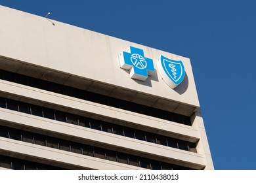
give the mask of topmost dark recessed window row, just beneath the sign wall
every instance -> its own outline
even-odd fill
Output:
[[[64,85],[56,84],[53,82],[32,78],[30,76],[24,76],[17,73],[11,73],[9,71],[3,71],[1,69],[0,69],[0,79],[16,82],[18,84],[24,84],[26,86],[32,86],[34,88],[39,88],[39,89],[47,90],[50,92],[68,95],[71,97],[76,97],[79,99],[85,99],[87,101],[93,101],[95,103],[100,103],[100,104],[108,105],[111,107],[121,108],[124,110],[129,110],[132,112],[137,112],[137,113],[145,114],[148,116],[154,116],[156,118],[169,120],[171,122],[177,122],[179,124],[191,125],[189,116],[175,114],[173,112],[160,110],[158,108],[139,105],[137,103],[131,103],[129,101],[123,101],[121,99],[116,99],[114,97],[109,97],[106,95],[100,95],[98,93],[79,90],[77,88],[72,88],[69,86],[64,86]]]

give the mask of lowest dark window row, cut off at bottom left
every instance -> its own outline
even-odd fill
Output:
[[[64,170],[60,167],[54,167],[51,165],[1,155],[0,167],[12,170]]]

